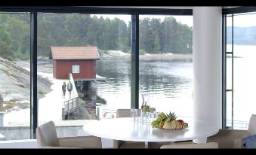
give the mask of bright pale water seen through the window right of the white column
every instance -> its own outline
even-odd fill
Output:
[[[231,49],[231,45],[227,45]],[[229,50],[231,51],[231,50]],[[256,46],[234,45],[233,47],[233,119],[245,121],[256,114]],[[232,61],[227,59],[227,89],[232,89]],[[227,120],[232,118],[232,96],[227,93]],[[237,124],[242,126],[242,124]],[[248,126],[245,126],[247,129]]]

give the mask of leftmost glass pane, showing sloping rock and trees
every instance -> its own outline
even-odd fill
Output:
[[[30,14],[0,13],[0,141],[30,138]]]

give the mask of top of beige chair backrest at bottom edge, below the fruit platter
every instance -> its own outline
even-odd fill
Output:
[[[160,148],[218,148],[217,142],[209,142],[205,144],[169,144],[162,145]]]

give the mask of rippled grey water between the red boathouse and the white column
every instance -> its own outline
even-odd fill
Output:
[[[99,60],[97,74],[107,78],[97,85],[97,93],[106,99],[107,107],[131,108],[131,61]],[[156,111],[193,116],[192,59],[140,60],[139,87],[140,95],[147,94],[150,107]]]

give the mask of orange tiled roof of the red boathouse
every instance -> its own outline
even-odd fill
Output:
[[[100,59],[97,47],[51,47],[52,59]]]

